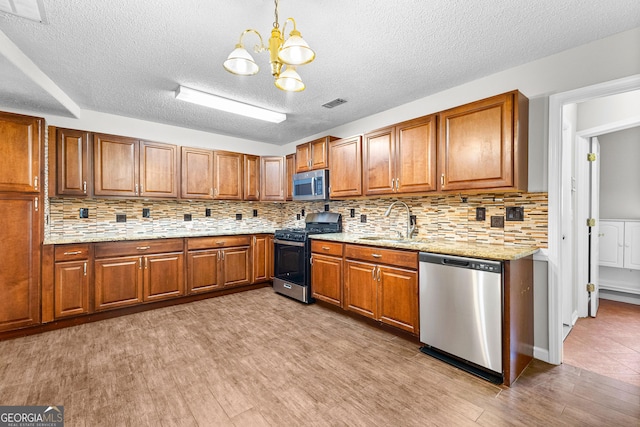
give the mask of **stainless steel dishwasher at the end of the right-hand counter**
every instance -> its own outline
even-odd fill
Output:
[[[502,283],[501,262],[421,252],[421,351],[502,383]]]

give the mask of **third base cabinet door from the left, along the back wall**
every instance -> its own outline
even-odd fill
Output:
[[[144,257],[144,300],[156,301],[184,295],[182,253]]]

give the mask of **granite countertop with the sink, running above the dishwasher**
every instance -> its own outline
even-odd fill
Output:
[[[391,237],[383,240],[370,240],[367,239],[367,237],[372,236],[349,233],[314,234],[310,237],[314,240],[329,240],[334,242],[356,243],[359,245],[411,249],[420,252],[467,256],[497,261],[511,261],[524,258],[526,256],[533,255],[539,250],[536,246],[454,242],[442,239],[396,240]]]

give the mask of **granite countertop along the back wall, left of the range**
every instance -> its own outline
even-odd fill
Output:
[[[245,234],[273,234],[274,229],[251,230],[189,230],[174,233],[128,233],[128,234],[100,234],[93,236],[60,236],[49,237],[44,240],[45,245],[63,245],[69,243],[100,243],[120,242],[126,240],[155,240],[155,239],[180,239],[183,237],[213,237],[213,236],[241,236]]]

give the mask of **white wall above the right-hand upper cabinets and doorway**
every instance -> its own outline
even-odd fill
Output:
[[[294,152],[296,144],[323,135],[338,137],[357,135],[519,89],[530,100],[529,191],[546,191],[549,95],[638,73],[640,73],[640,27],[456,86],[329,129],[322,134],[310,135],[308,138],[285,146],[283,153]]]

